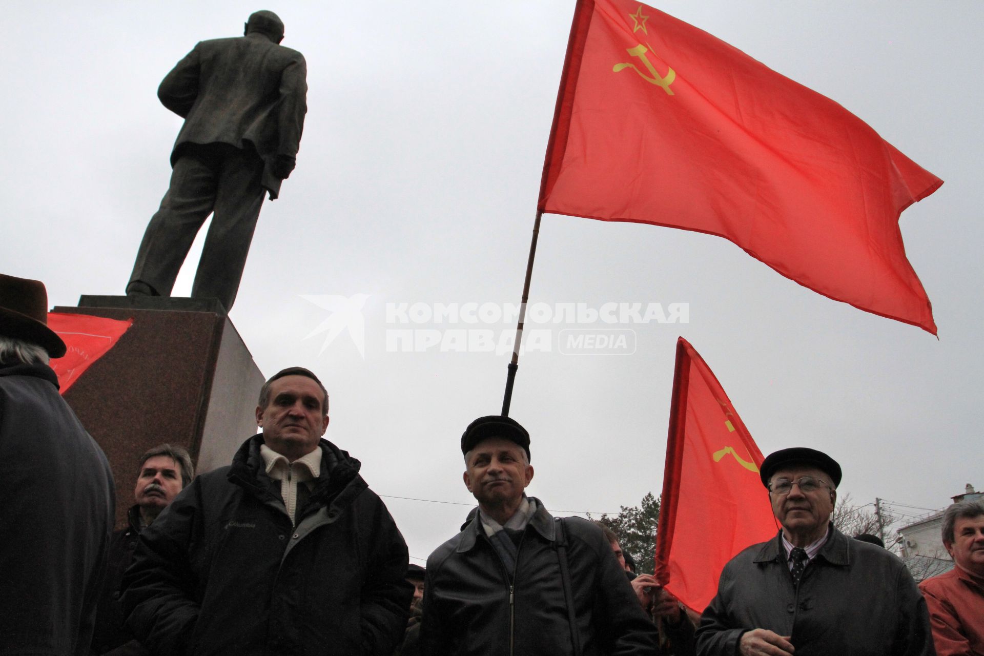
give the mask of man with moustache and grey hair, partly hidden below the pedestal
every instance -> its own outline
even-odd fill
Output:
[[[126,626],[126,617],[119,604],[123,572],[133,562],[133,552],[137,548],[141,531],[154,522],[157,515],[174,501],[193,478],[195,468],[185,447],[157,445],[140,457],[137,485],[133,490],[137,503],[127,512],[126,528],[114,532],[109,545],[106,584],[95,613],[92,654],[138,656],[147,653],[133,639],[133,633]]]

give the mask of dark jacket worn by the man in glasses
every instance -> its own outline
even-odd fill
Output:
[[[926,602],[902,562],[835,528],[798,589],[778,534],[731,559],[697,629],[697,653],[737,654],[753,628],[792,636],[796,656],[936,653]]]

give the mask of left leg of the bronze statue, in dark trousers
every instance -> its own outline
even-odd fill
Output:
[[[158,296],[170,296],[174,279],[215,205],[216,175],[207,158],[184,154],[174,162],[171,186],[151,218],[137,252],[127,292],[151,287]]]

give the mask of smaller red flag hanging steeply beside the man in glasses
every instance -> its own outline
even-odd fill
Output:
[[[677,341],[656,579],[702,613],[721,569],[778,530],[756,447],[724,389],[686,339]]]

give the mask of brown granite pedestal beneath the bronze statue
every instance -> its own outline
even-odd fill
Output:
[[[167,442],[187,447],[196,473],[229,464],[257,433],[264,377],[212,299],[83,296],[68,312],[133,319],[65,400],[105,451],[116,478],[116,524],[134,504],[138,458]]]

